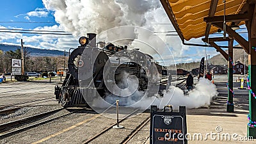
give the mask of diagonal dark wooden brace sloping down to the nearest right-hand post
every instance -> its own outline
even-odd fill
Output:
[[[212,24],[217,28],[223,30],[223,22],[214,22]],[[236,31],[234,31],[229,26],[226,26],[226,32],[228,33],[228,35],[232,36],[232,38],[234,38],[234,40],[236,40],[241,45],[241,47],[243,47],[244,51],[246,51],[247,53],[249,52],[249,42],[247,42],[247,40],[245,40],[241,35],[236,33]]]

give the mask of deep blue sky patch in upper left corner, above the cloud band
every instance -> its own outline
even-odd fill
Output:
[[[40,0],[0,0],[1,26],[34,29],[38,26],[53,26],[58,24],[51,12],[45,10]],[[37,9],[37,10],[36,10]],[[30,15],[29,15],[30,12]],[[34,12],[34,13],[33,13]],[[44,12],[44,13],[38,13]],[[4,13],[4,14],[3,14]],[[40,15],[41,14],[41,15]],[[27,19],[26,19],[27,18]],[[28,19],[29,18],[29,19]],[[54,22],[53,24],[24,24],[24,23],[3,23],[3,22]]]

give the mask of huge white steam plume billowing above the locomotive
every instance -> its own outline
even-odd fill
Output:
[[[150,31],[174,31],[172,25],[159,25],[169,23],[166,12],[159,0],[43,0],[45,8],[54,13],[56,22],[65,31],[75,36],[84,36],[86,33],[97,33],[118,26],[139,26]],[[156,36],[148,37],[147,34],[131,29],[131,31],[119,31],[115,37],[122,34],[131,35],[132,38],[147,38],[154,41]],[[156,33],[168,45],[161,47],[163,54],[170,53],[171,49],[175,58],[182,58],[184,50],[188,47],[182,46],[179,36],[166,36],[166,33]],[[175,33],[172,33],[175,34]],[[147,42],[148,42],[147,41]],[[157,42],[155,42],[157,44]],[[131,42],[129,42],[131,44]],[[127,44],[126,44],[127,45]],[[131,44],[131,47],[141,48],[141,44]],[[142,49],[141,49],[142,50]],[[154,55],[154,51],[143,51]],[[153,53],[153,54],[152,54]],[[159,52],[158,52],[159,53]],[[165,58],[165,56],[164,56]],[[166,56],[166,59],[170,59]],[[183,59],[182,61],[186,61]],[[173,64],[169,62],[169,64]]]

